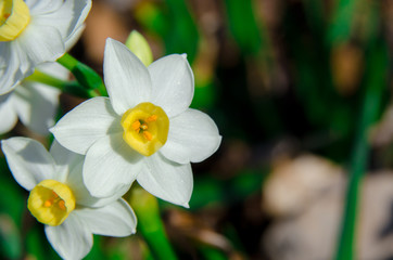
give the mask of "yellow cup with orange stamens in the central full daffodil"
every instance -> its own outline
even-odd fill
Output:
[[[150,156],[166,143],[169,119],[163,108],[145,102],[124,113],[122,126],[124,141],[141,155]]]

